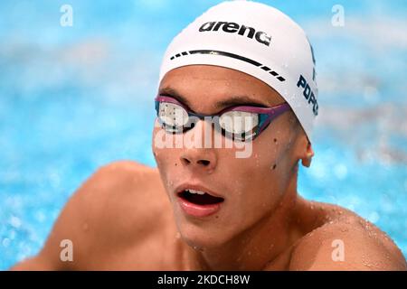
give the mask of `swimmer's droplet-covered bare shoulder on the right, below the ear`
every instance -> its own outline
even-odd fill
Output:
[[[407,270],[401,250],[374,224],[335,205],[312,206],[324,220],[298,240],[290,270]]]

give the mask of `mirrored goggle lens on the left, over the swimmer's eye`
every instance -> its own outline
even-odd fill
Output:
[[[184,107],[171,102],[159,102],[157,117],[166,131],[181,133],[188,123],[188,113]]]

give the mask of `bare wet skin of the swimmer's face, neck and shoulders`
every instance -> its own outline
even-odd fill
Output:
[[[260,80],[214,66],[172,70],[159,89],[208,115],[284,102]],[[298,195],[298,163],[309,166],[314,152],[293,119],[291,112],[276,118],[243,159],[235,148],[158,148],[155,126],[157,168],[101,167],[71,197],[38,256],[13,269],[405,270],[400,249],[373,224]],[[221,210],[185,214],[177,197],[185,183],[222,196]],[[61,261],[62,239],[72,241],[72,262]],[[335,258],[338,248],[343,259]]]

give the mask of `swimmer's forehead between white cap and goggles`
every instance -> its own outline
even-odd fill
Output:
[[[213,65],[188,65],[170,70],[159,86],[159,89],[168,88],[198,105],[211,105],[236,97],[248,97],[270,107],[284,102],[279,93],[260,79]]]

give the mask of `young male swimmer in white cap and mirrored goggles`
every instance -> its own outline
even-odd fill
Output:
[[[287,15],[249,1],[213,6],[166,51],[153,132],[158,170],[100,168],[38,256],[14,269],[405,270],[401,251],[374,225],[298,196],[298,163],[309,166],[314,155],[314,65]],[[236,145],[185,145],[208,137]],[[248,154],[237,157],[237,144],[250,145]],[[64,239],[72,261],[61,259]]]

